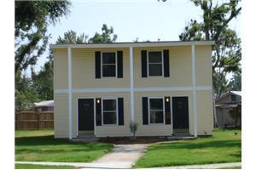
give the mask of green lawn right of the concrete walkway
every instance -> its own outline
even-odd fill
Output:
[[[237,133],[235,135],[235,133]],[[134,167],[167,167],[241,161],[241,130],[215,130],[212,137],[151,144]]]

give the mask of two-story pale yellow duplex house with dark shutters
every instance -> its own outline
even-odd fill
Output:
[[[51,45],[55,138],[211,135],[211,41]]]

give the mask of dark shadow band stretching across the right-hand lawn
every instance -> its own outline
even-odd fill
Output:
[[[158,144],[150,147],[149,150],[168,150],[168,149],[203,149],[203,148],[232,148],[241,147],[241,141],[220,140],[206,141],[201,143],[177,143],[177,144]]]

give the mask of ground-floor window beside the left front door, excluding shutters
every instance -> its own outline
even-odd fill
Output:
[[[117,123],[116,99],[103,99],[103,124]]]

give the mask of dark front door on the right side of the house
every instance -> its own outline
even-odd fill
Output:
[[[173,133],[189,133],[188,97],[172,98]]]

